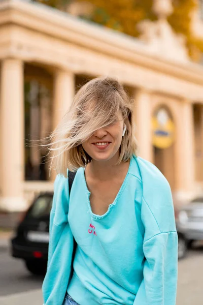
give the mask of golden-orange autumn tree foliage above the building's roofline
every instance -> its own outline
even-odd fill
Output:
[[[52,7],[66,10],[73,2],[82,5],[91,4],[92,10],[89,14],[81,15],[89,21],[115,29],[116,31],[139,37],[138,23],[142,20],[156,20],[153,13],[153,0],[39,0]],[[194,37],[191,27],[191,13],[196,9],[196,0],[173,0],[174,11],[168,17],[168,22],[177,34],[186,39],[190,56],[198,60],[199,54],[203,52],[202,40]]]

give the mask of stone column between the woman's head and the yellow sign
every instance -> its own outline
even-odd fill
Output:
[[[151,129],[151,96],[144,89],[135,92],[136,137],[138,139],[139,156],[152,162],[152,129]]]

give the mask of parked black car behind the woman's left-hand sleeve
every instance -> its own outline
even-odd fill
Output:
[[[11,239],[12,256],[25,261],[27,269],[35,274],[46,272],[49,243],[49,215],[53,193],[40,194],[25,212]]]

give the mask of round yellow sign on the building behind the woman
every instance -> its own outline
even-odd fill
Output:
[[[155,147],[168,148],[175,138],[175,126],[170,115],[160,108],[152,117],[152,142]]]

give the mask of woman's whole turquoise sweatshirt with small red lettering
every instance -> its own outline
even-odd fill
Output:
[[[66,291],[80,305],[175,305],[178,238],[165,177],[133,157],[106,214],[93,214],[89,196],[84,168],[77,171],[70,198],[67,178],[57,176],[45,305],[62,305]]]

